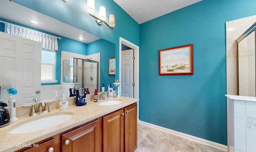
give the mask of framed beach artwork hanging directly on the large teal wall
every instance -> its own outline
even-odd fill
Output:
[[[193,74],[193,44],[159,50],[159,75]]]

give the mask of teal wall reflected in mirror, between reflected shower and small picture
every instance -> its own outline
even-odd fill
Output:
[[[115,47],[114,43],[102,39],[88,44],[88,55],[100,52],[100,91],[102,91],[102,84],[107,91],[108,84],[115,82],[115,76],[108,75],[108,58],[115,57]]]

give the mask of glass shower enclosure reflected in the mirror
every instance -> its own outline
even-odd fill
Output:
[[[81,58],[63,60],[63,82],[81,84],[81,88],[98,86],[98,61]]]

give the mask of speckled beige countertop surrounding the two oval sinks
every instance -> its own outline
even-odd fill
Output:
[[[98,103],[108,101],[108,100],[121,100],[122,103],[112,105],[112,106],[100,106]],[[68,129],[74,128],[80,124],[89,122],[101,116],[104,116],[110,112],[114,112],[120,108],[126,107],[130,104],[138,102],[137,98],[128,97],[115,97],[113,99],[106,98],[105,100],[100,100],[100,102],[87,102],[84,106],[68,106],[67,110],[54,109],[50,110],[49,113],[37,115],[37,116],[24,116],[19,117],[17,122],[13,122],[7,126],[0,128],[0,151],[15,151],[22,147],[20,144],[34,144],[48,137],[54,136]],[[43,130],[38,130],[35,132],[30,132],[26,134],[9,134],[8,132],[13,128],[25,124],[39,118],[44,118],[48,116],[58,115],[58,114],[72,114],[74,115],[71,119],[66,122],[54,126],[52,128],[46,128]]]

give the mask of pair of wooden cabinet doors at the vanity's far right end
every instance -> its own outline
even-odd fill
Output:
[[[137,103],[103,117],[103,152],[137,148]]]

